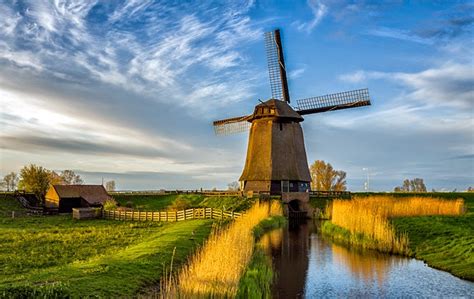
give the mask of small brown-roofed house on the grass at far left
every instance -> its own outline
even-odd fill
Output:
[[[45,195],[45,207],[70,213],[73,208],[101,207],[113,200],[102,185],[53,185]]]

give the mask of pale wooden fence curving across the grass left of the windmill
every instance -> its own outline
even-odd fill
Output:
[[[227,212],[214,208],[194,208],[165,212],[104,210],[102,216],[105,219],[113,220],[176,222],[192,219],[236,219],[242,216],[242,213]]]

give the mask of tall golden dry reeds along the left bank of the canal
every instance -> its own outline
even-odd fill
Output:
[[[282,214],[280,202],[256,203],[229,226],[213,231],[177,278],[162,286],[161,297],[235,297],[252,257],[252,229],[260,221]]]

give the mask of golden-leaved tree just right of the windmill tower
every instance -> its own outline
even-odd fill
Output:
[[[312,189],[316,191],[345,191],[346,173],[335,170],[330,163],[315,161],[309,168]]]

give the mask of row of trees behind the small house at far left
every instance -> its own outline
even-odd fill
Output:
[[[24,190],[42,199],[52,185],[82,185],[84,180],[70,169],[57,173],[43,166],[30,164],[24,166],[19,174],[12,171],[5,175],[0,184],[6,191]],[[114,191],[115,181],[106,182],[105,187],[107,191]]]

